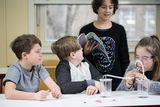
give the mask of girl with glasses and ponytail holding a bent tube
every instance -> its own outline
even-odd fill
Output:
[[[160,93],[160,41],[156,35],[142,38],[135,47],[135,58],[144,66],[144,79],[149,79],[149,91]],[[131,62],[126,69],[125,77],[133,79],[122,80],[117,91],[129,91],[137,89],[137,79],[143,77],[142,65],[137,62],[139,71],[135,72],[135,61]]]

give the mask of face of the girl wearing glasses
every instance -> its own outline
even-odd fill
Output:
[[[147,52],[145,47],[137,47],[136,60],[140,60],[144,66],[144,72],[153,70],[154,60],[153,56]],[[137,66],[140,68],[140,72],[143,72],[142,65],[137,62]]]

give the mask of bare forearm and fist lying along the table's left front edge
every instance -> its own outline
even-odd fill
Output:
[[[17,100],[46,100],[49,91],[39,91],[37,93],[23,92],[16,90],[16,85],[13,82],[6,82],[5,97],[6,99]]]

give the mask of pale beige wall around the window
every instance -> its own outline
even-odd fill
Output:
[[[160,12],[160,8],[159,11]],[[158,22],[157,34],[160,34]],[[6,67],[17,61],[9,44],[19,35],[29,33],[28,0],[0,0],[0,67]],[[45,59],[58,59],[53,54],[43,54]],[[134,53],[130,53],[134,60]]]

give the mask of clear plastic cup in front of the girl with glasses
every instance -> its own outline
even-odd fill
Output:
[[[137,94],[139,98],[149,97],[149,80],[148,79],[138,79],[137,80]]]

